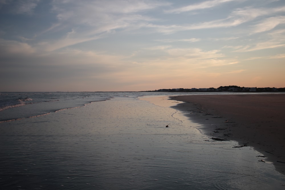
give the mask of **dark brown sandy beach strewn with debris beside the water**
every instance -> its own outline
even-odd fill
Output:
[[[285,94],[185,95],[183,110],[213,138],[252,146],[285,175]],[[242,148],[242,147],[241,147]]]

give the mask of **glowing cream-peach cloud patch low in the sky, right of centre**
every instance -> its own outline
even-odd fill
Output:
[[[159,58],[140,59],[140,65],[152,71],[164,72],[173,75],[187,75],[189,71],[218,67],[224,65],[237,64],[239,61],[232,58],[224,58],[219,50],[204,51],[200,48],[167,48],[164,49],[167,54]],[[156,53],[156,52],[154,52]],[[139,55],[137,55],[139,56]],[[136,57],[132,58],[133,60]]]

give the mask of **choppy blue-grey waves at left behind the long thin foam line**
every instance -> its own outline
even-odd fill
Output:
[[[105,101],[113,93],[9,93],[0,97],[0,121],[42,116],[66,109],[84,107],[92,102]],[[25,106],[29,105],[29,106]],[[19,108],[17,108],[19,107]]]

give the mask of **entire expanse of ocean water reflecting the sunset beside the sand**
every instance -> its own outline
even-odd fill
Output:
[[[184,94],[2,92],[0,188],[284,189],[262,154],[174,109]]]

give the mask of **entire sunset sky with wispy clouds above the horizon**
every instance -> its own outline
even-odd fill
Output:
[[[284,0],[0,0],[0,91],[285,87]]]

